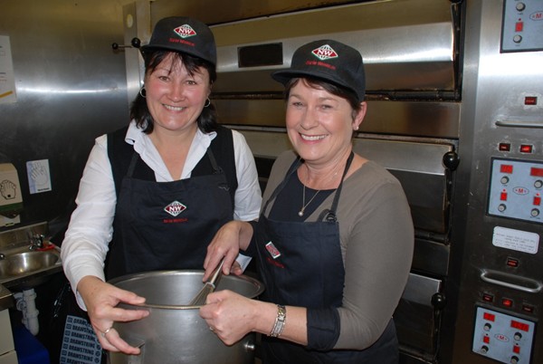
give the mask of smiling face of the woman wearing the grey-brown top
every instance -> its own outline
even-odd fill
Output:
[[[300,79],[287,99],[287,132],[301,158],[326,166],[351,150],[353,130],[365,114],[366,102],[353,110],[347,99]]]

